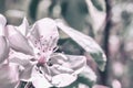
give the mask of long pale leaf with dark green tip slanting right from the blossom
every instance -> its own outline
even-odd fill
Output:
[[[92,37],[84,35],[83,33],[72,28],[69,28],[61,22],[58,22],[58,26],[61,31],[68,34],[74,42],[76,42],[81,47],[83,47],[85,52],[89,53],[94,58],[99,68],[101,70],[104,70],[106,57],[102,48]]]

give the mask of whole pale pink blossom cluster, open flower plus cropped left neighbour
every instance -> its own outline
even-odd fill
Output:
[[[58,53],[57,22],[44,18],[29,25],[7,24],[0,14],[0,88],[30,81],[35,88],[65,87],[76,80],[86,65],[79,55]]]

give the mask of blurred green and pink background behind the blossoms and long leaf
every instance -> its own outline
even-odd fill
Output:
[[[0,0],[0,13],[9,24],[21,24],[23,16],[30,24],[42,18],[62,19],[93,37],[104,50],[108,63],[105,72],[100,72],[86,55],[88,65],[96,73],[96,84],[109,88],[133,88],[132,9],[133,0]],[[59,45],[59,51],[66,54],[85,55],[63,35]]]

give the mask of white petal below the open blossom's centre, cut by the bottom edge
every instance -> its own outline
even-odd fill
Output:
[[[39,72],[37,72],[35,67],[32,72],[32,84],[35,88],[50,88],[52,85],[44,78],[43,75],[41,75]]]

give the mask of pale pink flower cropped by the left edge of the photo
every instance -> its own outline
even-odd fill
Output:
[[[19,65],[10,63],[9,43],[4,36],[7,20],[0,14],[0,88],[16,88],[19,82]]]

